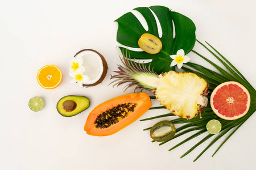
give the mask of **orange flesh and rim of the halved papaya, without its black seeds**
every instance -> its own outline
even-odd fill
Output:
[[[96,124],[94,124],[97,116],[102,112],[105,112],[108,109],[116,107],[118,104],[123,103],[136,103],[136,107],[134,108],[134,112],[128,112],[127,117],[125,118],[118,118],[119,122],[116,124],[111,125],[108,128],[100,129],[96,128]],[[129,95],[122,95],[105,101],[104,103],[98,105],[96,108],[90,112],[84,130],[89,135],[95,136],[107,136],[117,133],[117,131],[125,128],[126,126],[130,125],[132,122],[137,120],[141,117],[150,107],[152,103],[148,94],[141,92],[138,94],[129,94]]]

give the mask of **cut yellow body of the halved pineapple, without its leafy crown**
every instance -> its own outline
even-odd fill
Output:
[[[203,91],[207,82],[194,73],[169,71],[159,75],[155,91],[156,99],[177,116],[191,119],[200,106],[205,106]]]

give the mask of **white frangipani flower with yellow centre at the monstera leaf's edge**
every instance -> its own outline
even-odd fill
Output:
[[[185,56],[183,49],[178,50],[176,55],[172,55],[170,57],[174,59],[171,62],[171,67],[177,65],[179,69],[181,69],[183,63],[187,63],[190,60],[190,57]]]

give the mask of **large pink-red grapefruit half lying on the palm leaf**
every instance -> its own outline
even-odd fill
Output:
[[[210,95],[210,107],[217,116],[225,120],[235,120],[248,112],[250,94],[238,82],[225,82],[213,90]]]

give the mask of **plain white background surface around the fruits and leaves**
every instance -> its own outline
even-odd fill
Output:
[[[256,87],[254,1],[2,1],[0,5],[1,112],[0,169],[253,169],[256,165],[256,115],[225,143],[212,158],[224,138],[199,160],[193,159],[212,140],[180,159],[200,139],[169,152],[185,139],[163,146],[151,143],[142,129],[160,120],[142,118],[168,113],[148,111],[127,128],[109,137],[93,137],[83,130],[86,117],[98,104],[129,94],[123,87],[109,86],[110,74],[121,63],[114,20],[135,7],[166,6],[188,16],[196,24],[196,37],[219,50]],[[100,85],[80,88],[71,84],[69,60],[81,49],[92,48],[105,56],[108,74]],[[195,50],[203,52],[199,44]],[[202,59],[189,54],[192,61]],[[36,81],[38,70],[53,64],[63,72],[57,88],[46,90]],[[90,107],[74,117],[62,117],[57,101],[65,95],[84,95]],[[28,100],[41,96],[40,112],[28,108]],[[154,102],[154,105],[158,103]]]

